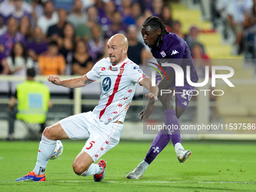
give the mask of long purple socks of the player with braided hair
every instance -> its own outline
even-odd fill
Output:
[[[164,123],[166,125],[166,130],[160,130],[144,159],[148,164],[150,164],[154,158],[163,151],[163,148],[166,147],[170,139],[172,139],[173,146],[177,142],[181,143],[180,124],[174,110],[167,109],[164,111]]]

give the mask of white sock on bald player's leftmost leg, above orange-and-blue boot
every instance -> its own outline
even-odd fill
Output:
[[[48,160],[56,146],[56,141],[47,139],[44,135],[41,137],[41,142],[38,149],[38,161],[35,164],[35,175],[43,175],[45,167],[47,166]]]

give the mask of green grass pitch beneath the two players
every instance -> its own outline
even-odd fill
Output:
[[[84,142],[62,140],[61,157],[50,160],[44,182],[16,182],[35,166],[38,142],[0,142],[0,191],[256,191],[255,142],[184,142],[193,156],[178,163],[169,144],[139,180],[128,180],[151,142],[120,142],[107,161],[101,183],[81,177],[72,162]]]

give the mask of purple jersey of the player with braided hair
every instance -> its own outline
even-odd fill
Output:
[[[166,62],[172,62],[178,66],[181,66],[184,71],[184,85],[187,84],[186,67],[190,66],[190,79],[192,82],[197,83],[197,71],[194,66],[189,47],[183,38],[180,38],[178,35],[169,32],[169,34],[163,36],[163,41],[160,42],[158,46],[151,48],[151,53],[153,54],[154,58],[160,59],[160,62],[165,62],[166,60]],[[175,72],[172,67],[166,67],[165,71],[169,73]],[[173,78],[171,84],[175,85],[175,78]]]

